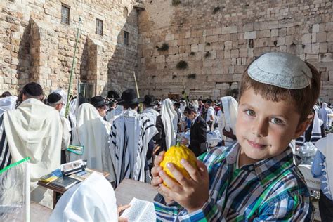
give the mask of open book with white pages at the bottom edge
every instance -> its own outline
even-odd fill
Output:
[[[133,198],[129,203],[131,207],[125,209],[121,217],[127,218],[129,222],[140,221],[150,222],[156,221],[154,204],[145,200]]]

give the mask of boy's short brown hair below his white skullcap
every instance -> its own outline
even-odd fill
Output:
[[[306,121],[320,93],[320,73],[313,65],[307,62],[305,63],[312,72],[312,79],[311,84],[303,89],[285,89],[255,81],[249,77],[249,74],[247,73],[248,66],[242,76],[240,98],[244,91],[252,88],[256,94],[259,93],[266,100],[272,100],[274,102],[289,100],[291,103],[294,103],[296,106],[296,112],[301,115],[299,123]],[[251,63],[249,65],[251,65]]]

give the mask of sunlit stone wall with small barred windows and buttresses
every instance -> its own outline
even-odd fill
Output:
[[[61,4],[70,7],[70,25],[61,20]],[[138,67],[138,15],[134,0],[0,1],[0,93],[18,93],[29,81],[49,91],[68,88],[77,26],[73,88],[86,82],[94,94],[133,88]],[[126,7],[126,9],[125,9]],[[103,20],[103,36],[96,34]],[[129,45],[124,44],[129,32]]]

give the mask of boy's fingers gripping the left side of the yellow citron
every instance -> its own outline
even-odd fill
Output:
[[[154,160],[154,167],[152,167],[152,181],[151,181],[151,185],[157,189],[157,191],[164,197],[164,200],[166,203],[172,202],[173,200],[166,195],[163,190],[160,188],[160,185],[163,183],[162,178],[159,176],[159,172],[162,171],[162,167],[159,166],[159,164],[162,162],[163,158],[164,158],[164,151],[163,152],[159,152],[159,155],[155,157]]]

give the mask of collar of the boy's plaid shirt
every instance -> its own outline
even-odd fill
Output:
[[[238,142],[231,145],[229,149],[226,150],[226,152],[228,152],[226,155],[227,164],[236,164],[237,154],[239,151],[240,144]],[[261,181],[261,185],[265,187],[293,166],[292,158],[292,149],[288,147],[285,151],[280,153],[280,155],[260,160],[254,164],[244,165],[240,169],[255,171],[256,176],[258,176]]]

